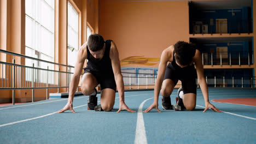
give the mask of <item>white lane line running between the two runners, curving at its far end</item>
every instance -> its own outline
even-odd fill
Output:
[[[149,98],[149,99],[153,99],[153,98]],[[144,103],[149,99],[144,100],[141,103],[141,105],[139,105],[138,115],[137,115],[137,124],[136,124],[136,134],[135,134],[135,141],[134,141],[134,143],[136,143],[136,144],[137,143],[148,143],[145,125],[144,125],[142,108],[143,108]]]

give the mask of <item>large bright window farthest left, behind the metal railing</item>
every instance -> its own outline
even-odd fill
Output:
[[[54,0],[25,0],[26,13],[26,56],[54,62]],[[25,64],[38,68],[54,69],[53,64],[26,59]],[[26,70],[26,80],[30,80],[30,71]],[[39,81],[39,74],[34,73]]]

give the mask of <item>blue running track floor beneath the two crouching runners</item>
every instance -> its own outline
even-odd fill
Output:
[[[205,104],[197,89],[194,111],[162,110],[160,95],[161,113],[142,113],[153,103],[153,95],[154,91],[125,92],[125,103],[136,113],[116,112],[118,93],[111,112],[88,111],[87,96],[74,98],[77,113],[55,113],[67,98],[3,106],[0,143],[256,143],[256,106],[211,101],[224,112],[203,113]],[[172,104],[176,96],[174,89]],[[209,98],[256,98],[256,89],[209,88]]]

